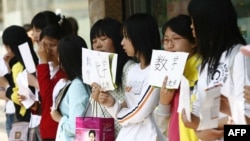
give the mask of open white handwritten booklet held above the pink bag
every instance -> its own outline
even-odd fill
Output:
[[[91,85],[93,82],[105,90],[114,90],[116,79],[117,54],[82,49],[83,82]]]

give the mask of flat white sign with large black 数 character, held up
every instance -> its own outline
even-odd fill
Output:
[[[181,81],[187,57],[188,53],[186,52],[153,50],[149,84],[162,87],[165,76],[168,76],[166,88],[177,89]]]

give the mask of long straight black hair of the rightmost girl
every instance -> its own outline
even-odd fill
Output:
[[[214,72],[224,51],[231,52],[236,44],[245,45],[237,25],[237,15],[231,0],[191,0],[188,13],[193,19],[201,70],[208,63]]]

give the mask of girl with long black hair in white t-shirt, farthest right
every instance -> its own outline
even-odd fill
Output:
[[[198,118],[198,122],[185,121],[186,126],[198,129],[197,135],[201,140],[224,140],[223,125],[228,124],[229,116],[235,124],[246,124],[243,97],[246,60],[239,51],[246,41],[239,30],[237,14],[230,0],[191,0],[188,13],[192,18],[191,28],[202,63],[197,99],[192,105],[192,117]],[[216,109],[217,121],[213,122],[213,118],[205,116],[204,112],[208,108],[213,109],[205,108],[204,103],[209,97],[206,89],[218,84],[222,84],[219,92],[223,97],[220,109]],[[213,128],[208,128],[208,125],[213,125]]]

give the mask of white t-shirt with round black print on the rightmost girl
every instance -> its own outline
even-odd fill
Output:
[[[243,120],[245,119],[243,87],[246,85],[247,78],[245,67],[246,63],[249,63],[249,61],[239,51],[240,47],[240,45],[237,45],[229,56],[226,56],[226,52],[224,52],[221,56],[216,72],[212,75],[208,75],[207,65],[203,71],[200,72],[197,84],[197,100],[193,105],[193,112],[195,115],[199,116],[200,107],[205,100],[205,89],[217,84],[222,84],[221,94],[229,98],[234,123],[245,124],[245,120]],[[233,55],[235,51],[236,53]],[[226,115],[220,113],[219,116],[223,117]]]

